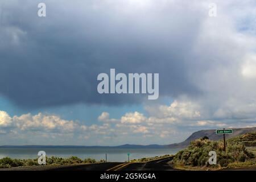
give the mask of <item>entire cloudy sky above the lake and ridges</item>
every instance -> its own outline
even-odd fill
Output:
[[[171,144],[256,127],[255,25],[254,0],[2,0],[0,145]],[[159,73],[158,100],[99,94],[111,68]]]

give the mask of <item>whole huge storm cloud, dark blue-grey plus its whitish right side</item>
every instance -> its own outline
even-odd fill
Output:
[[[0,93],[19,106],[146,98],[98,94],[97,75],[110,68],[159,73],[160,97],[203,100],[245,91],[238,70],[254,38],[240,36],[232,11],[214,19],[205,1],[44,1],[47,16],[39,17],[39,2],[0,3]],[[229,7],[218,2],[220,12]],[[214,107],[214,99],[208,102]]]

